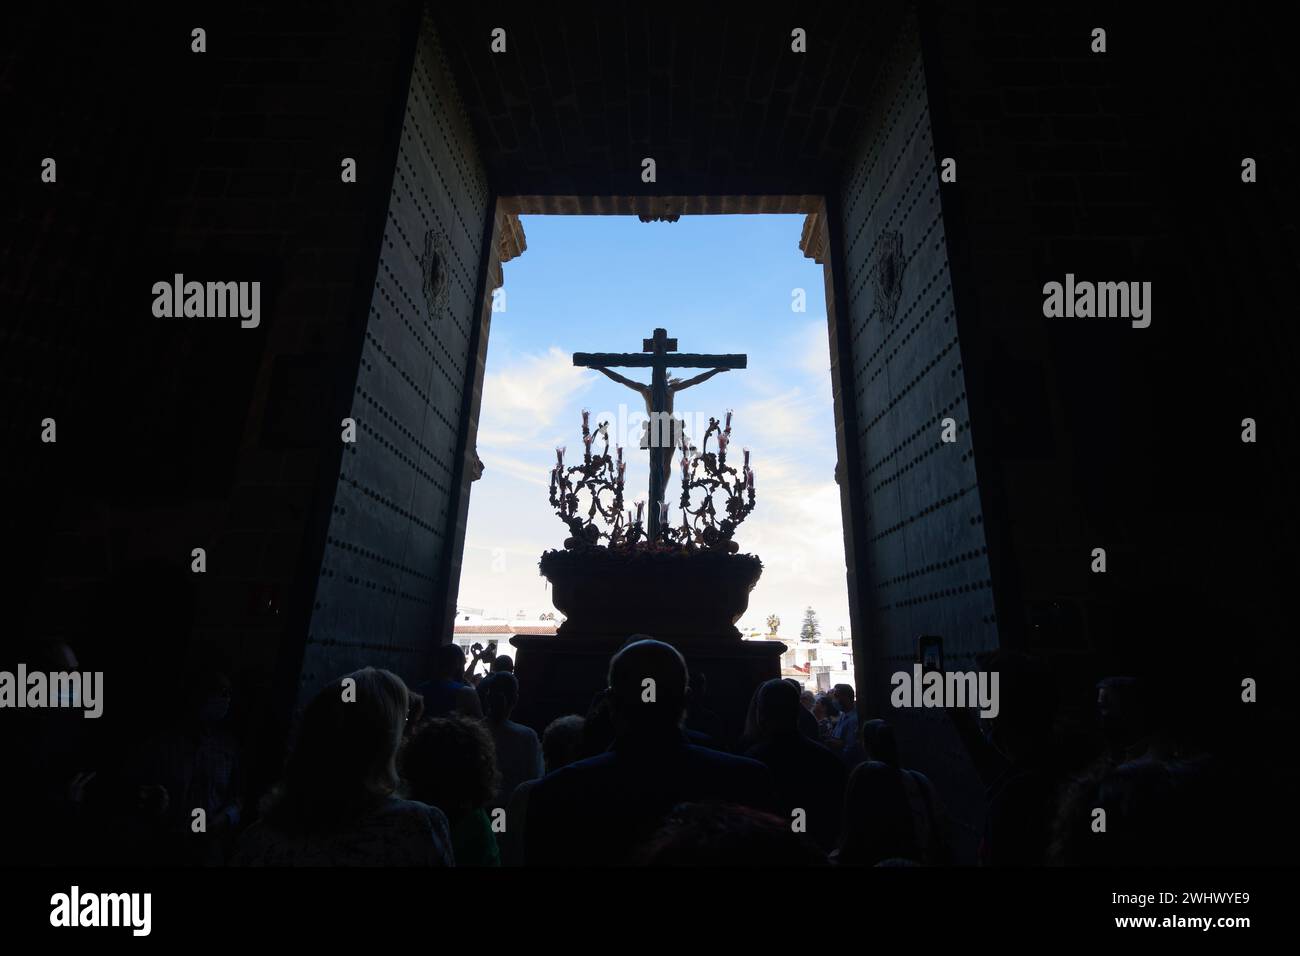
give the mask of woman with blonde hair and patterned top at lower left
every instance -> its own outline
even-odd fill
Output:
[[[410,704],[402,679],[374,667],[321,689],[234,865],[452,865],[442,810],[394,796]]]

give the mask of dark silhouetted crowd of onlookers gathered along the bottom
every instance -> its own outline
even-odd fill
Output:
[[[29,659],[78,666],[64,641]],[[1287,797],[1268,783],[1258,735],[1208,698],[1175,706],[1112,676],[1062,701],[1041,661],[998,652],[980,666],[1001,675],[997,715],[949,711],[985,795],[970,858],[954,840],[966,825],[852,687],[768,680],[732,740],[705,675],[644,635],[614,654],[586,714],[541,736],[512,719],[510,658],[478,676],[445,645],[416,689],[373,667],[343,675],[302,711],[263,793],[238,682],[220,670],[177,682],[155,711],[166,721],[21,711],[8,845],[16,862],[191,866],[1096,866],[1282,852]],[[1088,715],[1072,739],[1066,704]]]

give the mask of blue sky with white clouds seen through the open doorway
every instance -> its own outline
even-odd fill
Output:
[[[656,326],[680,351],[746,352],[749,367],[681,392],[688,423],[734,410],[733,447],[748,446],[758,503],[736,533],[763,559],[741,626],[781,618],[797,635],[811,605],[829,636],[848,632],[844,537],[835,484],[835,416],[822,267],[798,248],[802,216],[524,216],[528,250],[504,265],[504,311],[493,315],[478,425],[484,476],[469,499],[458,605],[490,615],[554,610],[537,572],[567,535],[547,502],[556,445],[581,451],[593,427],[624,423],[628,501],[646,497],[644,414],[634,392],[585,368],[575,351],[640,351]],[[803,289],[806,311],[792,308]],[[647,369],[620,369],[649,381]],[[686,377],[696,372],[679,372]],[[693,434],[694,437],[694,434]],[[673,509],[676,511],[676,509]]]

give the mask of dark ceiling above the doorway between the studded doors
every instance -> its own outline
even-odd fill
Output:
[[[558,5],[556,5],[558,7]],[[901,4],[430,4],[500,195],[824,193]],[[506,30],[504,53],[490,49]],[[790,49],[794,27],[807,52]],[[641,182],[655,160],[658,182]]]

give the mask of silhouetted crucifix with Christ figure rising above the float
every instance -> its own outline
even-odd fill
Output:
[[[673,441],[680,434],[680,425],[672,418],[672,397],[682,389],[698,385],[729,368],[745,368],[745,355],[690,355],[668,352],[677,351],[677,339],[668,338],[666,329],[655,329],[653,338],[641,339],[640,352],[573,352],[573,364],[594,368],[607,375],[620,385],[640,393],[646,403],[650,421],[642,447],[650,450],[650,516],[646,529],[650,540],[659,533],[659,503],[663,501],[668,477],[672,475]],[[650,384],[624,378],[610,368],[649,368]],[[670,377],[670,368],[707,368],[708,372],[694,378]],[[667,427],[667,428],[666,428]],[[664,432],[667,431],[667,440]]]

